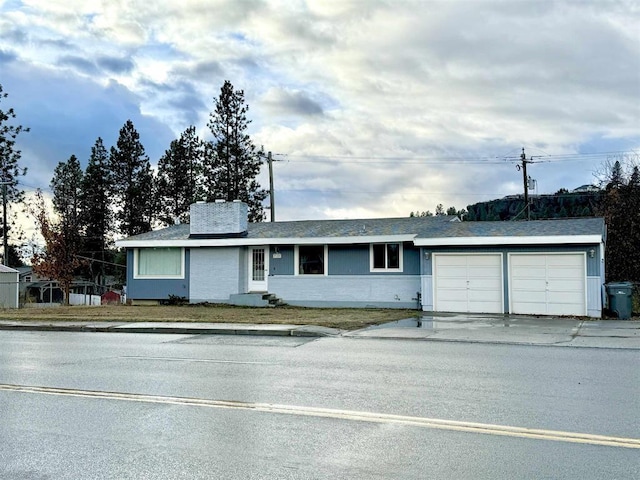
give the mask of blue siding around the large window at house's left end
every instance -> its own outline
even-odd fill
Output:
[[[185,278],[133,278],[133,249],[127,249],[127,298],[132,300],[168,300],[169,295],[189,298],[189,249],[185,249]]]

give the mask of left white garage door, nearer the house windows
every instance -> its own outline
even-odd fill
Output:
[[[434,254],[434,309],[502,313],[502,254]]]

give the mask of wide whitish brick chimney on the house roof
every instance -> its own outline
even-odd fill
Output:
[[[240,200],[191,205],[189,238],[230,238],[247,235],[249,208]]]

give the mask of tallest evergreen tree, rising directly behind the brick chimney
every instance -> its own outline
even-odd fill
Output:
[[[244,91],[234,90],[226,80],[215,100],[215,110],[209,115],[213,140],[206,149],[205,192],[208,201],[246,202],[249,220],[259,222],[264,219],[262,202],[267,191],[256,180],[263,155],[246,133],[251,123],[247,119],[248,110]]]

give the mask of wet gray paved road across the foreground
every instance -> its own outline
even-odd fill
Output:
[[[640,478],[638,365],[624,349],[4,331],[0,478]]]

